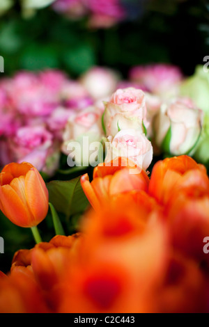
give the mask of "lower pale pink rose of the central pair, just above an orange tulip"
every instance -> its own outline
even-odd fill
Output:
[[[126,157],[132,160],[138,168],[146,170],[153,160],[153,147],[144,134],[135,129],[123,129],[113,138],[109,136],[105,162],[116,157]]]

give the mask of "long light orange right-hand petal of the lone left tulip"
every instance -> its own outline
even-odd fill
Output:
[[[31,168],[25,177],[26,200],[35,218],[33,226],[38,225],[49,209],[49,193],[44,180],[36,168]]]

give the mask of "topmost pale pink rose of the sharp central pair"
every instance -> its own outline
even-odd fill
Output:
[[[103,125],[107,136],[115,136],[120,129],[144,131],[146,118],[145,96],[136,88],[119,89],[105,104]]]

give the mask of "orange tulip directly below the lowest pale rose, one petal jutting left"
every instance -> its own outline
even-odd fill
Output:
[[[85,174],[81,177],[81,183],[93,208],[100,209],[101,205],[107,204],[113,196],[120,193],[147,191],[149,178],[132,161],[120,157],[109,164],[100,163],[93,171],[93,181],[90,183]]]

